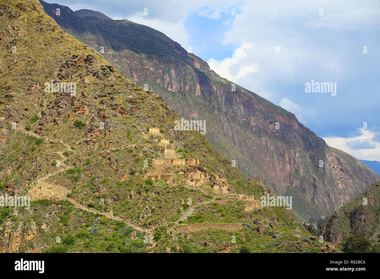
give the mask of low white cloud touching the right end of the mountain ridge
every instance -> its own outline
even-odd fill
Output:
[[[324,137],[325,142],[332,147],[343,150],[344,152],[361,160],[380,161],[380,143],[374,140],[375,132],[359,129],[360,136],[344,138],[344,137]],[[357,143],[369,143],[374,148],[366,148],[363,144],[363,149],[354,149]]]

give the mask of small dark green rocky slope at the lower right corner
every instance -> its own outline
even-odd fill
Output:
[[[349,235],[380,242],[380,181],[328,216],[320,227],[326,241],[340,243]]]

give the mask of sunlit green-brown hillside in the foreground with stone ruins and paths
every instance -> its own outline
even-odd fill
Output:
[[[336,251],[37,0],[0,19],[0,252]]]

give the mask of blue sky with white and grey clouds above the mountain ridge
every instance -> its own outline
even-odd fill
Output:
[[[378,0],[57,1],[155,28],[328,145],[380,161]]]

